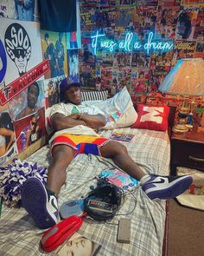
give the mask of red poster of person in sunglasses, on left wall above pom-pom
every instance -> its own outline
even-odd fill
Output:
[[[14,122],[18,153],[29,148],[35,141],[46,135],[45,108]]]

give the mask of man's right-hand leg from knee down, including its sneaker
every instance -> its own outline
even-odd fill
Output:
[[[124,145],[118,141],[109,141],[102,146],[100,154],[103,157],[111,158],[124,172],[140,181],[143,192],[152,200],[174,198],[187,190],[193,182],[192,177],[188,175],[165,177],[144,174],[143,170],[137,166],[137,163],[131,159]]]

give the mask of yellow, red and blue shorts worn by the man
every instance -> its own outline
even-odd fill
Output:
[[[100,155],[99,148],[110,141],[107,138],[94,137],[89,135],[62,134],[54,138],[51,143],[51,153],[56,145],[67,145],[73,148],[74,157],[77,154]]]

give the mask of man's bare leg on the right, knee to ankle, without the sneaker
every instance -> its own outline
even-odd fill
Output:
[[[131,159],[127,148],[118,141],[109,141],[106,143],[100,148],[100,154],[105,158],[111,158],[118,167],[137,181],[143,178],[143,170]]]

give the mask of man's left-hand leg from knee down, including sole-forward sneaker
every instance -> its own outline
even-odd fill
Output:
[[[53,163],[48,167],[47,188],[36,178],[29,178],[22,186],[22,206],[36,226],[48,228],[59,221],[57,195],[66,181],[66,169],[73,160],[73,149],[67,145],[53,148]]]

